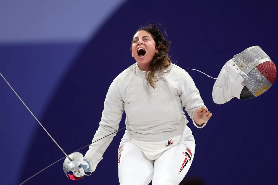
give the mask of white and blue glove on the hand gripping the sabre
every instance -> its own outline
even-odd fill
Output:
[[[85,172],[94,172],[98,163],[102,160],[103,158],[100,158],[98,162],[95,163],[94,166],[91,166],[91,162],[90,159],[88,158],[83,158],[82,162],[80,163],[80,165],[78,166],[77,169],[74,169],[72,172],[74,174],[75,177],[82,177],[85,174]],[[91,174],[90,174],[91,175]]]

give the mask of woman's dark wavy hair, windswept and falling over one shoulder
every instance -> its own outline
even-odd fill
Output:
[[[136,31],[136,33],[138,31],[149,32],[154,39],[156,48],[158,49],[158,53],[154,55],[154,58],[150,63],[150,67],[147,69],[146,72],[147,82],[149,82],[153,88],[155,88],[154,82],[157,80],[155,74],[162,74],[164,70],[172,63],[170,57],[168,56],[171,41],[166,41],[166,39],[164,38],[164,36],[162,35],[162,33],[156,25],[162,26],[159,23],[150,23]],[[164,28],[163,30],[165,35],[167,36],[167,33]],[[131,51],[131,47],[129,48],[129,50]]]

